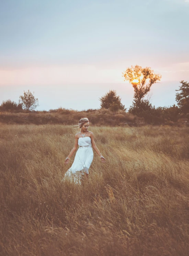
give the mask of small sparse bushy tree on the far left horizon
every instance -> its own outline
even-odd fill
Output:
[[[19,97],[19,103],[21,103],[26,110],[34,110],[39,106],[38,99],[34,97],[30,90],[24,92],[24,95]]]

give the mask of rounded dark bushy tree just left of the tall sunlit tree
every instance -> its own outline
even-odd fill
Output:
[[[116,90],[109,90],[104,96],[99,98],[101,108],[117,111],[119,109],[126,110],[125,106],[121,103],[121,98],[116,94]]]

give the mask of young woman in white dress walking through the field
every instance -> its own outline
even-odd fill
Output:
[[[75,136],[75,145],[66,158],[65,164],[68,164],[70,157],[77,150],[78,145],[79,149],[76,153],[71,168],[65,173],[65,178],[69,178],[74,182],[81,184],[81,180],[83,180],[84,175],[86,175],[87,178],[89,175],[89,167],[93,160],[92,148],[97,152],[102,163],[105,163],[105,158],[102,156],[97,146],[95,145],[93,133],[88,131],[89,119],[81,118],[79,120],[79,128],[81,130]]]

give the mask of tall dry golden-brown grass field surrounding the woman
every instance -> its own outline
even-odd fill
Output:
[[[187,256],[189,129],[90,130],[107,163],[75,185],[72,126],[0,126],[1,255]]]

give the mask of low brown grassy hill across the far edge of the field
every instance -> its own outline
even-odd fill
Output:
[[[2,124],[75,125],[82,117],[88,117],[91,124],[97,126],[189,125],[189,115],[179,114],[178,109],[175,111],[174,107],[153,108],[138,116],[124,110],[110,111],[108,109],[78,111],[58,108],[49,111],[0,111],[0,123]]]

